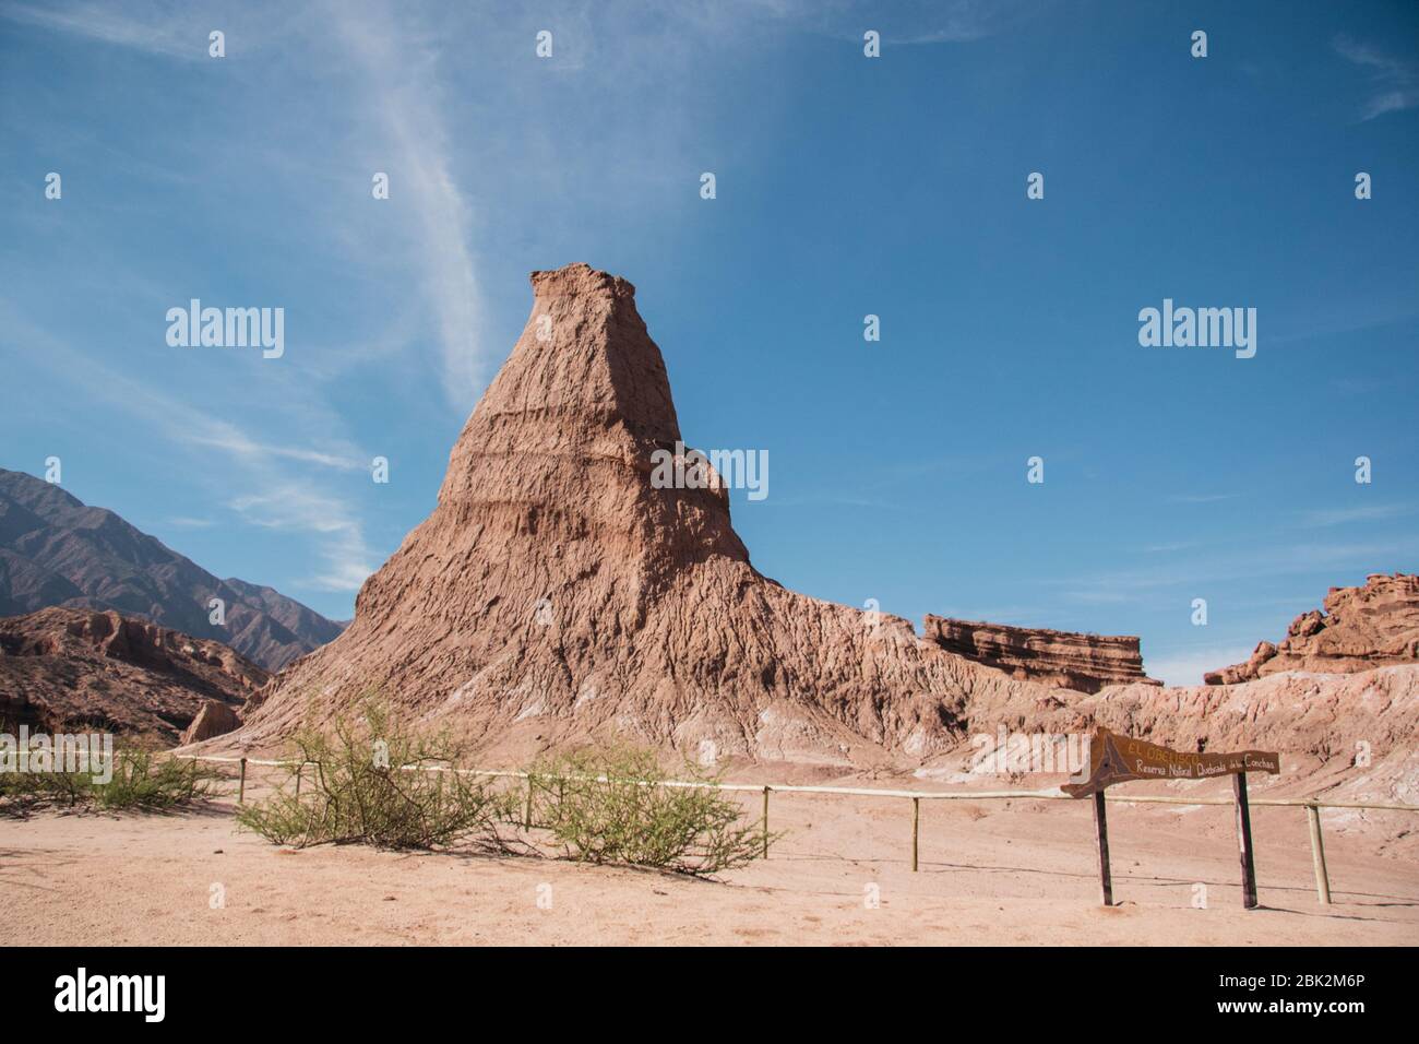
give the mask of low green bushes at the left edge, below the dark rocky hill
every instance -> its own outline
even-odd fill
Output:
[[[197,761],[125,750],[114,756],[108,783],[95,781],[88,768],[0,773],[0,814],[27,815],[48,807],[166,811],[210,797],[220,778]]]

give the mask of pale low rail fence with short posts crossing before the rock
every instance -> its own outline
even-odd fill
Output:
[[[267,760],[255,757],[219,757],[211,754],[175,754],[173,757],[186,758],[190,761],[214,761],[223,764],[240,766],[240,781],[237,788],[237,803],[245,801],[247,793],[247,766],[263,766],[263,767],[295,767],[295,793],[301,793],[301,774],[305,766],[316,764],[315,761],[291,761],[291,760]],[[433,771],[433,773],[457,773],[460,776],[480,776],[488,778],[512,778],[512,780],[528,780],[528,794],[526,805],[522,817],[522,825],[529,828],[532,825],[532,784],[531,773],[518,770],[495,770],[495,768],[454,768],[451,766],[400,766],[402,771]],[[606,783],[604,776],[599,776],[595,783]],[[1061,794],[1057,788],[1050,790],[959,790],[959,791],[927,791],[927,790],[880,790],[874,787],[817,787],[817,785],[802,785],[790,783],[710,783],[698,780],[657,780],[646,781],[644,785],[653,787],[687,787],[691,790],[724,790],[735,791],[744,794],[763,794],[763,858],[769,858],[769,794],[836,794],[841,797],[871,797],[871,798],[901,798],[911,800],[911,869],[918,872],[918,852],[921,841],[921,803],[922,801],[1074,801],[1067,794]],[[1100,791],[1100,797],[1104,797],[1105,791]],[[1236,801],[1223,797],[1166,797],[1161,794],[1134,794],[1131,797],[1107,795],[1105,798],[1110,804],[1158,804],[1158,805],[1235,805]],[[1393,811],[1393,812],[1419,812],[1419,805],[1399,804],[1399,803],[1384,803],[1384,801],[1328,801],[1318,797],[1305,798],[1252,798],[1249,804],[1253,805],[1271,805],[1271,807],[1286,807],[1286,808],[1304,808],[1307,825],[1310,828],[1311,838],[1311,862],[1315,869],[1315,896],[1321,905],[1328,906],[1331,902],[1330,895],[1330,872],[1325,866],[1325,842],[1321,837],[1321,821],[1320,810],[1323,808],[1351,808],[1351,810],[1365,810],[1365,811]]]

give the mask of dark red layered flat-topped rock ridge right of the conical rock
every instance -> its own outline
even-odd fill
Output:
[[[946,652],[1019,680],[1090,693],[1132,682],[1162,685],[1144,675],[1138,639],[1130,635],[1086,635],[931,615],[922,629],[927,641]]]

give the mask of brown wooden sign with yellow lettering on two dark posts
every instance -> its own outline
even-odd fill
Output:
[[[1088,744],[1088,764],[1060,790],[1074,798],[1094,798],[1094,835],[1098,844],[1098,881],[1105,906],[1114,902],[1108,869],[1108,821],[1104,790],[1130,780],[1210,780],[1232,776],[1236,790],[1237,844],[1242,852],[1242,905],[1256,909],[1256,865],[1252,857],[1252,811],[1246,800],[1246,774],[1281,771],[1281,756],[1267,750],[1236,754],[1186,754],[1156,743],[1095,729]]]

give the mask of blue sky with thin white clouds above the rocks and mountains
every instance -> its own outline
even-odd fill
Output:
[[[349,616],[587,261],[687,442],[769,452],[759,570],[1195,683],[1419,567],[1416,161],[1410,3],[0,0],[0,466]],[[193,297],[285,355],[167,347]],[[1165,297],[1256,357],[1141,347]]]

